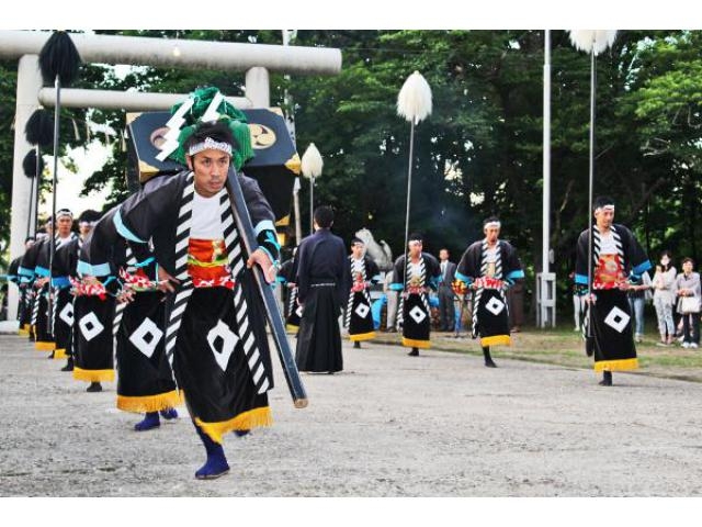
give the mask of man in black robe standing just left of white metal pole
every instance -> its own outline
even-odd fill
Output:
[[[497,217],[485,220],[485,238],[465,250],[456,269],[456,280],[473,289],[473,338],[480,336],[488,368],[497,368],[490,356],[490,346],[511,344],[505,292],[514,284],[514,280],[524,278],[514,247],[498,239],[500,228]]]

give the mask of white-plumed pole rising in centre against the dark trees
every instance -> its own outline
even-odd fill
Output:
[[[403,287],[407,278],[407,266],[409,256],[407,255],[407,238],[409,237],[409,204],[412,191],[412,157],[415,152],[415,125],[419,124],[431,114],[431,88],[429,82],[419,71],[415,71],[407,77],[397,96],[397,113],[399,116],[410,122],[409,132],[409,164],[407,169],[407,214],[405,215],[405,272],[403,274]]]

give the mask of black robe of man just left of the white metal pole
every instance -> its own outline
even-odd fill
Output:
[[[473,293],[473,338],[480,337],[480,346],[511,344],[509,332],[509,304],[505,296],[508,287],[514,280],[524,278],[517,250],[509,242],[497,240],[499,250],[492,277],[489,277],[487,262],[487,242],[485,239],[472,244],[461,257],[456,268],[456,280],[471,287],[476,280],[486,277],[500,282],[498,287],[480,284]]]

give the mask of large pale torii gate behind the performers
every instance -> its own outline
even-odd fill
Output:
[[[49,35],[50,33],[36,31],[0,31],[0,58],[19,59],[12,164],[11,259],[24,253],[26,218],[32,213],[31,183],[22,170],[22,160],[32,146],[24,137],[24,128],[35,110],[56,103],[54,89],[43,88],[38,68],[38,53]],[[70,36],[84,63],[246,71],[246,97],[227,98],[239,109],[270,106],[269,71],[336,75],[341,70],[341,51],[337,48],[80,33]],[[165,110],[185,97],[186,94],[63,89],[61,106]],[[8,301],[8,319],[14,319],[18,305],[18,291],[14,288],[10,288]]]

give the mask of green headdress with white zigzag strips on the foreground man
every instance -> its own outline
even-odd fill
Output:
[[[234,135],[235,144],[233,145],[231,152],[231,162],[234,167],[240,170],[249,159],[253,158],[251,133],[247,124],[246,115],[242,111],[228,103],[219,92],[219,89],[215,87],[196,89],[190,94],[188,100],[171,108],[171,114],[173,114],[173,116],[178,115],[179,110],[181,110],[183,105],[186,108],[180,123],[182,127],[178,134],[178,147],[168,154],[168,157],[181,165],[185,165],[185,150],[183,149],[183,145],[185,141],[188,141],[188,137],[193,134],[199,124],[219,121],[226,123],[231,131],[231,135]],[[169,123],[171,123],[171,121],[169,121]],[[176,145],[173,144],[172,146]]]

